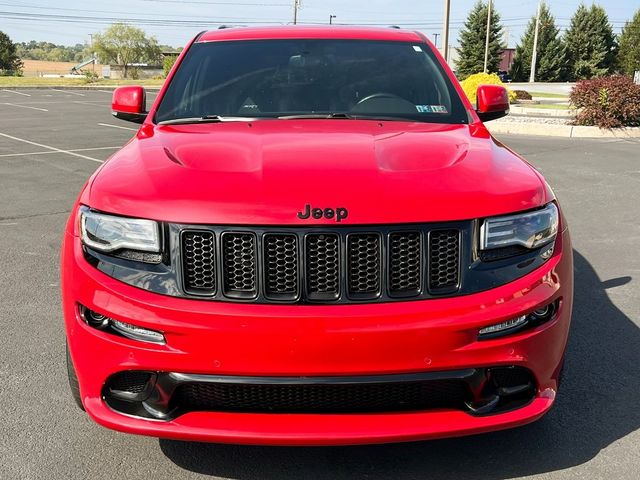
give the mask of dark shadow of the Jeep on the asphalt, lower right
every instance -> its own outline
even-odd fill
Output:
[[[250,447],[160,440],[194,472],[237,479],[492,478],[579,465],[640,426],[640,329],[612,302],[589,262],[575,256],[575,301],[565,377],[555,407],[521,428],[472,437],[357,447]]]

